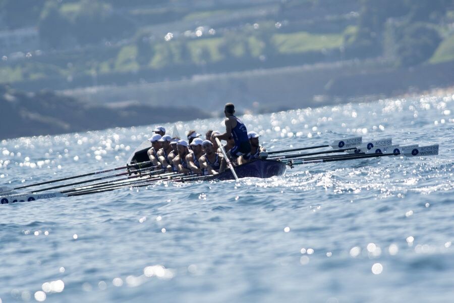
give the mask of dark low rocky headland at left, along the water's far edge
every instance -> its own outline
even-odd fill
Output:
[[[0,86],[0,139],[208,118],[195,108],[136,103],[87,105],[51,91],[25,93]]]

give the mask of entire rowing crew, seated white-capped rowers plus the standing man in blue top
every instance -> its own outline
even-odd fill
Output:
[[[195,130],[190,130],[187,139],[172,137],[165,134],[165,128],[156,127],[149,138],[151,148],[148,158],[153,166],[166,169],[168,172],[184,173],[186,175],[215,175],[225,170],[228,162],[241,165],[259,158],[265,149],[259,144],[259,134],[248,132],[244,123],[234,116],[235,106],[225,105],[224,133],[208,130],[205,140]],[[216,142],[225,140],[223,145],[229,161],[224,159],[220,146]]]

